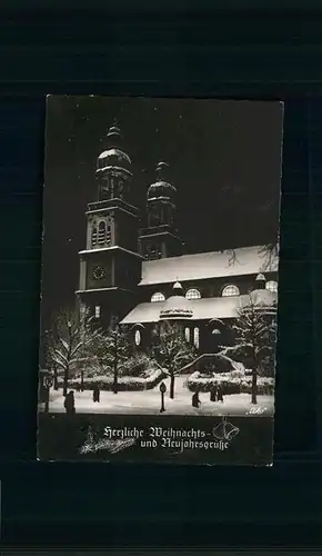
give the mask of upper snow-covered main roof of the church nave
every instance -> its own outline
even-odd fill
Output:
[[[263,246],[234,249],[233,261],[231,250],[143,261],[139,286],[276,271],[278,258],[271,257],[268,267],[268,257],[262,251]]]

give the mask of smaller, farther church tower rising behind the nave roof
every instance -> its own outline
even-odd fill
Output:
[[[140,231],[140,249],[147,260],[182,254],[182,241],[175,228],[175,187],[169,181],[169,166],[159,162],[157,181],[148,189],[148,227]]]

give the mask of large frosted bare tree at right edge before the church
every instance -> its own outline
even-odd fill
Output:
[[[233,358],[244,355],[251,366],[252,373],[252,404],[258,403],[258,376],[262,361],[273,355],[276,341],[276,307],[274,305],[259,304],[255,297],[249,296],[245,306],[238,310],[235,324],[235,345],[224,347],[222,355]]]

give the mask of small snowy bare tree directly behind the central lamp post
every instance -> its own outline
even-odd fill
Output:
[[[197,357],[195,349],[185,340],[180,325],[164,321],[160,326],[158,337],[155,336],[152,354],[170,377],[170,398],[173,399],[175,376],[184,365]]]

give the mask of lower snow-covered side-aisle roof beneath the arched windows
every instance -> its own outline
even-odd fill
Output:
[[[256,302],[271,305],[276,301],[276,294],[269,290],[256,291]],[[237,310],[248,305],[249,296],[232,297],[207,297],[191,299],[189,307],[193,311],[189,320],[211,320],[212,318],[234,318]],[[158,322],[160,311],[167,306],[167,301],[152,301],[139,304],[121,321],[121,325],[134,325],[144,322]]]

